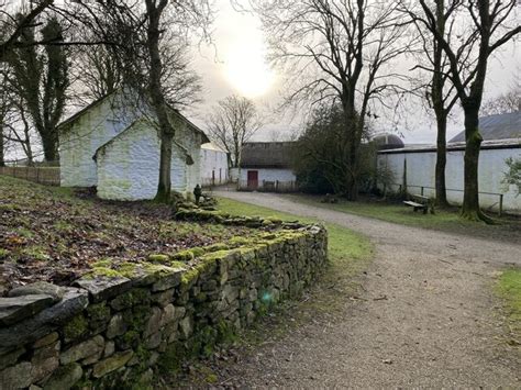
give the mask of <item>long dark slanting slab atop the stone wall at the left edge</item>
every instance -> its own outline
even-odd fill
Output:
[[[29,297],[34,298],[36,296],[27,296],[27,298]],[[51,332],[56,331],[59,325],[70,321],[73,316],[81,312],[88,304],[89,297],[87,291],[77,288],[66,288],[64,299],[58,303],[13,326],[0,326],[0,355],[19,345],[35,342]]]

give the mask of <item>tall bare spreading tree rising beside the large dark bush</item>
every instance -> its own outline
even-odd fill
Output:
[[[396,91],[390,63],[407,51],[396,1],[258,0],[255,10],[269,36],[271,58],[291,74],[288,102],[341,103],[346,155],[344,196],[355,200],[366,118]],[[391,78],[395,82],[390,81]],[[373,111],[373,113],[372,113]],[[380,113],[381,115],[381,113]]]

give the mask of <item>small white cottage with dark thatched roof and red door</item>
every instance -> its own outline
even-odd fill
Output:
[[[240,189],[292,191],[297,177],[291,169],[292,142],[248,142],[241,152],[236,172]]]

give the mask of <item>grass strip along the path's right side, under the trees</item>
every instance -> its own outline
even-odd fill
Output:
[[[432,229],[445,232],[458,232],[468,234],[509,234],[521,230],[521,221],[517,218],[502,218],[498,225],[486,225],[481,222],[467,221],[459,218],[457,209],[436,209],[434,214],[413,212],[412,208],[404,207],[401,202],[391,203],[376,200],[361,200],[350,202],[343,199],[339,203],[321,203],[321,197],[290,196],[295,201],[312,204],[320,208],[341,211],[348,214],[374,218],[377,220],[398,223],[402,225]],[[518,234],[519,235],[519,234]]]

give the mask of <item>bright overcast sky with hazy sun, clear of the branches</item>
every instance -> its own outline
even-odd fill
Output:
[[[220,99],[231,94],[243,94],[254,100],[266,112],[267,123],[255,136],[256,141],[270,141],[274,133],[287,137],[301,127],[299,118],[290,121],[288,116],[275,114],[274,108],[280,101],[282,75],[270,70],[266,64],[266,45],[259,20],[252,14],[235,11],[229,0],[215,0],[214,48],[196,51],[193,66],[203,80],[203,103],[198,105],[193,120],[202,129],[210,108]],[[519,46],[519,45],[518,45]],[[217,58],[215,53],[217,52]],[[489,63],[486,99],[499,96],[520,81],[521,54],[512,42],[499,52]],[[485,99],[485,100],[486,100]],[[406,143],[434,143],[435,124],[429,115],[412,110],[407,123],[399,124]],[[458,110],[461,111],[461,110]],[[385,123],[377,123],[376,130],[387,131]],[[447,138],[463,127],[463,118],[455,115],[448,124]]]

